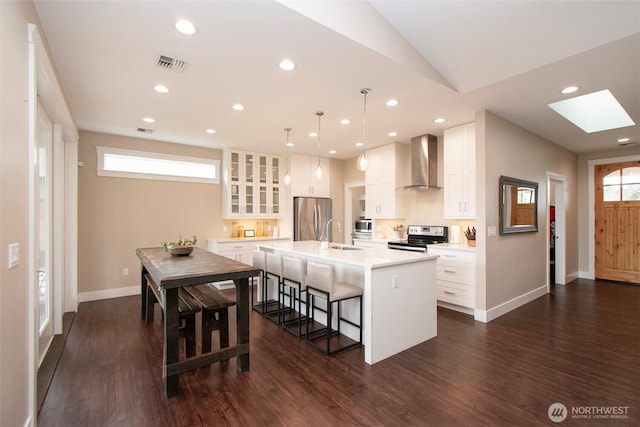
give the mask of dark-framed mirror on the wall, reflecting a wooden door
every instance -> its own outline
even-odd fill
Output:
[[[500,177],[500,234],[538,231],[538,183]]]

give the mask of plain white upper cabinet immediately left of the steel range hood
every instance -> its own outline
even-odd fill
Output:
[[[406,146],[398,143],[367,150],[365,171],[365,212],[367,218],[404,217],[404,192],[396,191],[406,182]]]

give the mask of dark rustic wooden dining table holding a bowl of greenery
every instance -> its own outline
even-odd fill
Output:
[[[188,256],[172,256],[161,247],[138,248],[136,255],[141,262],[141,308],[146,315],[146,289],[148,274],[164,295],[164,347],[162,379],[165,396],[180,391],[179,375],[215,362],[237,358],[238,372],[249,370],[249,278],[257,276],[259,269],[230,258],[194,248]],[[178,344],[178,291],[181,287],[203,283],[233,280],[236,287],[236,345],[199,356],[180,360]]]

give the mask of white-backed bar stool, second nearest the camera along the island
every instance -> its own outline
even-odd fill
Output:
[[[302,322],[306,320],[307,316],[302,313],[302,293],[306,291],[306,272],[307,262],[300,258],[293,258],[288,256],[282,257],[282,292],[280,293],[280,324],[284,329],[297,335],[298,338],[302,337]],[[287,293],[289,289],[289,293]],[[285,312],[285,299],[289,299],[289,313],[290,316],[286,316]],[[298,305],[296,310],[296,303]],[[306,302],[305,302],[306,309]],[[297,330],[294,328],[297,325]]]

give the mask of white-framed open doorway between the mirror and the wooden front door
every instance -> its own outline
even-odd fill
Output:
[[[547,289],[551,284],[567,284],[566,188],[567,182],[564,176],[547,172],[547,218],[549,218],[547,221],[547,236],[549,236],[547,239]],[[550,221],[552,207],[555,216],[553,224]],[[551,264],[552,261],[553,264]],[[552,271],[554,272],[553,276],[551,276]]]

